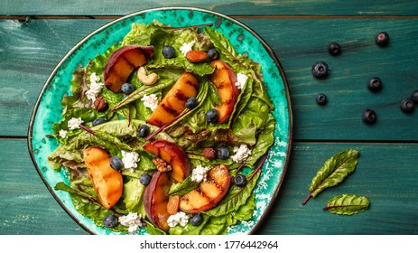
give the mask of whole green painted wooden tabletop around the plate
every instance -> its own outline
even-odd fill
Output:
[[[157,3],[158,2],[158,3]],[[0,6],[0,234],[87,234],[52,198],[27,146],[33,105],[60,59],[88,33],[159,1],[6,0]],[[418,234],[418,108],[399,102],[418,89],[416,1],[189,1],[228,14],[261,35],[283,65],[293,102],[293,148],[283,186],[258,234]],[[117,3],[117,4],[116,4]],[[376,4],[374,4],[376,3]],[[390,35],[386,47],[375,35]],[[342,46],[339,56],[327,51]],[[311,75],[315,61],[330,77]],[[383,80],[378,93],[371,77]],[[329,98],[315,102],[317,93]],[[362,122],[376,110],[374,125]],[[360,152],[355,173],[301,202],[311,178],[331,155]],[[353,216],[322,211],[333,196],[367,196],[370,209]]]

